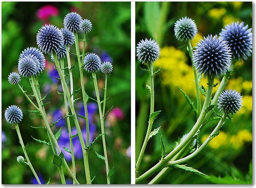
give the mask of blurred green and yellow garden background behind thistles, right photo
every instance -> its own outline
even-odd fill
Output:
[[[203,36],[218,35],[232,21],[244,22],[245,25],[248,24],[248,28],[252,27],[252,2],[136,2],[136,43],[146,37],[155,39],[161,48],[160,59],[154,63],[155,70],[163,65],[162,71],[154,77],[155,111],[161,110],[161,113],[154,121],[152,130],[159,126],[161,128],[148,142],[140,165],[140,174],[160,160],[161,135],[166,151],[170,152],[175,147],[175,141],[188,133],[196,122],[194,112],[177,88],[179,86],[186,91],[196,104],[190,57],[183,44],[174,36],[174,23],[185,16],[192,18],[198,28],[198,35],[192,41],[194,47]],[[249,168],[252,161],[252,57],[236,63],[236,66],[239,71],[232,75],[226,88],[241,92],[244,106],[232,117],[232,121],[226,121],[220,135],[187,164],[210,178],[172,169],[159,184],[252,182]],[[150,105],[146,88],[146,84],[149,84],[148,74],[139,67],[144,68],[136,61],[136,160],[146,134]],[[216,79],[215,82],[220,80]],[[204,79],[202,84],[207,87]],[[217,120],[210,121],[202,129],[200,143],[217,123]],[[143,183],[148,183],[148,180]]]

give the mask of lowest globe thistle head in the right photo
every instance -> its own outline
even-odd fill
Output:
[[[242,107],[242,96],[236,90],[224,90],[218,99],[218,108],[226,114],[236,114]]]

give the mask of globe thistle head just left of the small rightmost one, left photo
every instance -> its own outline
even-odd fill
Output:
[[[97,72],[100,69],[101,60],[95,53],[88,53],[84,57],[84,69],[88,72]]]

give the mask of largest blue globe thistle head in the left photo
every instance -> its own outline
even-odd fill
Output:
[[[44,53],[57,52],[60,46],[64,45],[64,37],[60,29],[54,25],[42,26],[36,35],[36,44]]]

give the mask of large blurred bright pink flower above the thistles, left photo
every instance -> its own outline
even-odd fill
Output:
[[[39,20],[46,21],[50,18],[50,16],[58,16],[59,10],[55,6],[46,5],[38,9],[36,12],[36,16]]]

